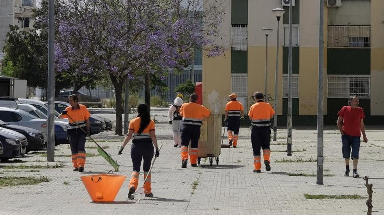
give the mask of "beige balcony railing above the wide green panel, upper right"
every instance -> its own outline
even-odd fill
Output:
[[[328,26],[328,47],[371,47],[371,26]]]

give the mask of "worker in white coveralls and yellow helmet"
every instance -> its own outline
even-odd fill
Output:
[[[181,147],[181,120],[182,117],[180,116],[180,108],[183,104],[182,95],[177,95],[175,98],[174,104],[169,107],[168,111],[168,120],[169,125],[172,125],[172,132],[173,132],[173,142],[174,147]]]

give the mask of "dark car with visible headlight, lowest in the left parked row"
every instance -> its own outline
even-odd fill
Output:
[[[0,155],[0,160],[5,162],[11,158],[20,157],[20,149],[22,144],[14,135],[0,131],[0,142],[3,145],[3,153]]]

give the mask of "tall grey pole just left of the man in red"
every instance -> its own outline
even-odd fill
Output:
[[[324,101],[323,101],[323,66],[324,66],[324,3],[320,0],[319,15],[319,88],[317,93],[317,171],[316,184],[323,184],[323,162],[324,162],[324,145],[323,145],[323,129],[324,129]]]

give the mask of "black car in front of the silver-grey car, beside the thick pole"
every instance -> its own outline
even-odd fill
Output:
[[[0,120],[0,128],[7,128],[24,135],[28,141],[26,152],[46,150],[44,136],[40,131],[36,129],[19,125],[10,125],[6,122],[3,122],[2,120]]]

